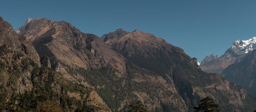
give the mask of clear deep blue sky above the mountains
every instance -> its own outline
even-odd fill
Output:
[[[19,28],[27,18],[65,20],[102,36],[123,28],[152,33],[201,60],[256,36],[254,0],[1,0],[0,16]]]

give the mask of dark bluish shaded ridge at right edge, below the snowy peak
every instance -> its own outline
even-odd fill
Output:
[[[241,62],[229,65],[223,70],[224,76],[230,82],[242,86],[249,93],[256,95],[256,50],[243,58]]]

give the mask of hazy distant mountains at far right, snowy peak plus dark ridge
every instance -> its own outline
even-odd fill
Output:
[[[206,56],[200,67],[206,72],[219,73],[230,82],[256,95],[255,49],[256,37],[245,41],[237,40],[221,57],[214,54]]]

